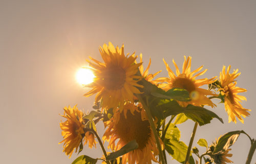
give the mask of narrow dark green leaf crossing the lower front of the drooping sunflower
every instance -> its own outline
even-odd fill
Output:
[[[129,142],[128,144],[123,146],[120,150],[110,153],[108,156],[106,156],[106,160],[116,159],[117,157],[119,157],[123,154],[129,153],[129,152],[137,149],[138,147],[139,147],[139,145],[136,142],[136,140],[132,140],[131,142]]]

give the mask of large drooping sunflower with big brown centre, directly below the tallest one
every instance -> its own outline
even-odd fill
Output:
[[[141,119],[141,108],[134,104],[125,104],[122,112],[117,110],[114,116],[106,122],[103,140],[109,141],[112,150],[119,150],[132,140],[136,140],[138,148],[122,156],[122,163],[151,163],[157,162],[158,149],[156,140],[148,120]],[[125,114],[126,113],[126,114]],[[115,141],[119,139],[117,144]]]

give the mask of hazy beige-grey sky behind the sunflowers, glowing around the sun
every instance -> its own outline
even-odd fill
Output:
[[[202,77],[219,75],[223,65],[239,68],[238,86],[248,91],[245,123],[229,123],[223,104],[211,109],[223,118],[199,127],[208,143],[221,134],[244,130],[256,137],[255,52],[256,1],[0,1],[0,163],[71,163],[62,152],[59,114],[65,106],[90,111],[94,97],[83,97],[75,73],[98,47],[111,41],[125,53],[152,58],[151,73],[171,68],[174,58],[192,56],[192,70],[204,65]],[[215,103],[218,103],[216,101]],[[208,108],[210,109],[210,108]],[[65,119],[62,119],[64,121]],[[193,122],[178,126],[188,145]],[[103,125],[97,125],[102,136]],[[87,148],[87,146],[85,146]],[[241,135],[230,159],[245,163],[250,141]],[[97,145],[99,148],[99,145]],[[203,153],[204,149],[200,149]],[[81,154],[101,157],[100,149]],[[168,163],[178,163],[168,157]],[[252,163],[256,162],[256,154]]]

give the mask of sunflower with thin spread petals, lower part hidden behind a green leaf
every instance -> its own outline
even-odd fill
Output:
[[[191,101],[187,101],[187,102],[178,101],[178,103],[183,107],[186,107],[188,104],[191,104],[194,106],[201,106],[201,105],[208,105],[211,107],[216,106],[211,102],[209,98],[206,97],[206,95],[213,95],[213,96],[217,96],[217,95],[209,90],[199,88],[203,85],[208,85],[213,83],[216,77],[212,77],[210,79],[207,79],[207,78],[196,79],[197,76],[204,74],[207,71],[207,69],[205,69],[200,73],[197,73],[203,68],[203,66],[201,66],[198,69],[191,72],[190,71],[191,57],[188,56],[188,58],[186,59],[186,56],[184,56],[184,58],[185,58],[185,61],[183,63],[182,73],[180,73],[180,70],[173,59],[174,66],[176,67],[176,75],[169,68],[168,64],[163,59],[166,69],[168,71],[169,78],[159,78],[158,81],[167,82],[167,84],[166,83],[161,84],[160,87],[165,91],[172,88],[186,89],[189,92]],[[194,75],[195,73],[197,74]]]

